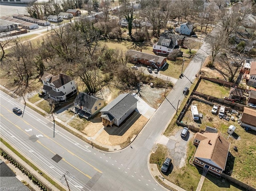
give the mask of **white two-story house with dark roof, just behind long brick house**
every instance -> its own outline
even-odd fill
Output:
[[[170,37],[169,35],[160,36],[159,41],[154,43],[153,52],[168,55],[172,53],[174,48],[178,48],[178,39]]]

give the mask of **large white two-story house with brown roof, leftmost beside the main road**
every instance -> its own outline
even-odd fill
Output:
[[[44,73],[41,80],[44,85],[42,91],[53,100],[66,101],[67,98],[77,93],[75,79],[65,74],[54,76]]]

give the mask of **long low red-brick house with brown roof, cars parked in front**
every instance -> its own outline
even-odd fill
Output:
[[[128,50],[126,55],[130,56],[130,59],[132,59],[131,61],[135,63],[151,66],[153,68],[163,68],[166,65],[166,57],[143,53],[136,50]]]

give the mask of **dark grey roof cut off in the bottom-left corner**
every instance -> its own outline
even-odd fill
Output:
[[[1,190],[19,190],[30,191],[21,181],[16,178],[16,174],[0,160],[0,189]]]

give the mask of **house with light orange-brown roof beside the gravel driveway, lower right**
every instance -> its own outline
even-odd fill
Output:
[[[198,146],[193,164],[215,175],[226,167],[230,143],[219,133],[196,133],[193,144]]]

